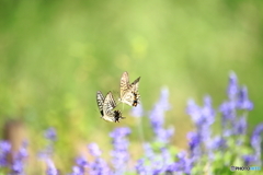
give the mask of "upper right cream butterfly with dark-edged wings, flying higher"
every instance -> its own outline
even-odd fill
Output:
[[[121,93],[118,101],[129,105],[137,106],[139,103],[139,80],[140,77],[137,78],[132,84],[129,84],[128,72],[124,72],[121,78]]]

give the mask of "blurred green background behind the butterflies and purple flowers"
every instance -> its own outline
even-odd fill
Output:
[[[160,89],[169,88],[167,122],[176,128],[173,144],[185,148],[193,126],[187,100],[202,104],[209,94],[217,108],[231,70],[254,102],[251,132],[263,120],[262,48],[260,0],[0,0],[0,133],[8,119],[22,120],[35,152],[45,145],[43,130],[56,127],[56,164],[66,170],[89,142],[106,154],[114,127],[134,129],[139,149],[130,107],[125,120],[110,124],[95,102],[99,90],[117,97],[119,78],[128,71],[132,81],[141,77],[147,112]],[[144,127],[150,140],[147,119]]]

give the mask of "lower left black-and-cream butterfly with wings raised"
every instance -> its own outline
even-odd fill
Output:
[[[116,103],[113,98],[112,92],[106,94],[104,98],[101,91],[96,92],[96,103],[101,113],[101,117],[106,121],[119,122],[119,119],[124,119],[121,110],[114,110]]]

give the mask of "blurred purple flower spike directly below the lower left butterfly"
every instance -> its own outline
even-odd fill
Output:
[[[130,133],[129,128],[116,128],[110,133],[110,137],[113,139],[113,151],[112,155],[112,164],[115,170],[115,175],[124,174],[127,168],[127,163],[129,161],[128,153],[128,140],[127,136]]]

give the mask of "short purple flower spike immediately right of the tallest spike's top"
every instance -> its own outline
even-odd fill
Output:
[[[253,103],[249,100],[247,86],[242,86],[239,92],[237,107],[240,109],[247,109],[247,110],[253,109]]]

